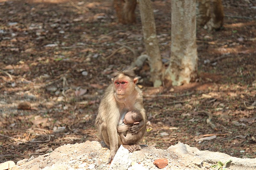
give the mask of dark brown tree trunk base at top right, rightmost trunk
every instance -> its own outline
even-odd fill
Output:
[[[220,29],[223,25],[224,11],[221,0],[197,0],[196,22],[204,29]]]

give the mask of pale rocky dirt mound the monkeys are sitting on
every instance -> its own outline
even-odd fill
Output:
[[[195,147],[178,143],[168,149],[142,146],[141,151],[129,153],[120,147],[111,164],[108,164],[109,149],[104,142],[86,141],[80,144],[65,144],[53,152],[37,158],[23,159],[11,169],[56,170],[56,169],[226,169],[255,170],[256,159],[241,159],[220,152],[199,151]],[[167,162],[168,161],[168,162]],[[9,168],[12,166],[9,163]],[[0,164],[4,169],[7,162]],[[5,164],[5,165],[4,165]],[[12,162],[13,164],[13,162]],[[7,166],[8,168],[8,166]]]

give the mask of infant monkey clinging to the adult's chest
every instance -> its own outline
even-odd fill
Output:
[[[142,115],[135,111],[127,112],[124,115],[124,120],[121,125],[117,127],[117,132],[121,137],[121,141],[123,144],[135,144],[139,138],[143,135],[143,131],[140,131],[137,134],[133,134],[128,132],[128,128],[132,127],[133,124],[138,124],[142,120]]]

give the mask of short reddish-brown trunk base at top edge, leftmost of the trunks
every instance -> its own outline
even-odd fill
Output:
[[[114,0],[113,3],[118,22],[122,24],[132,24],[136,22],[134,11],[137,0]]]

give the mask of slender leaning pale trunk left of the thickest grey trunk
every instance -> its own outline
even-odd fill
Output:
[[[162,85],[163,63],[156,37],[156,24],[150,0],[139,0],[140,18],[151,78],[154,87]]]

